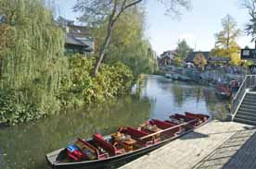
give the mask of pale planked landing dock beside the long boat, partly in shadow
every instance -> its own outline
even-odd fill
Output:
[[[255,169],[256,129],[212,121],[121,169]]]

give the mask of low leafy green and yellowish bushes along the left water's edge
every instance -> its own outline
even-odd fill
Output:
[[[1,90],[0,124],[28,122],[58,113],[61,105],[62,108],[70,108],[102,103],[130,91],[134,76],[128,66],[120,62],[111,66],[102,64],[98,76],[94,78],[90,74],[95,63],[95,57],[80,54],[70,57],[70,73],[61,78],[57,95],[45,93],[40,86],[32,83],[19,90]]]

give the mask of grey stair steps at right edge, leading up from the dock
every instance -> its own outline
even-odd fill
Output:
[[[234,121],[256,126],[256,93],[246,94]]]

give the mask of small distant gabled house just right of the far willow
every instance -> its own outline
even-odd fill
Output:
[[[176,55],[175,51],[166,51],[166,52],[160,54],[160,57],[158,58],[159,66],[172,65],[175,55]]]

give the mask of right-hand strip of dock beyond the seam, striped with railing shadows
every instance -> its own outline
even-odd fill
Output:
[[[194,168],[255,169],[255,131],[255,129],[238,131]]]

